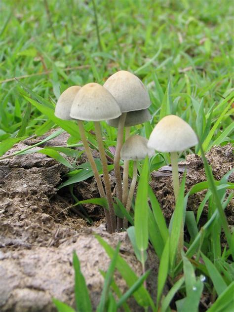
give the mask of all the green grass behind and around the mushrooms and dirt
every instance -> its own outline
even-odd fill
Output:
[[[48,8],[45,3],[48,3]],[[176,114],[185,119],[198,134],[201,145],[193,150],[198,155],[203,156],[202,148],[207,152],[213,145],[233,142],[232,9],[228,0],[222,3],[212,0],[2,0],[0,156],[20,140],[31,135],[42,135],[59,125],[71,134],[68,147],[63,150],[46,148],[42,152],[70,168],[68,181],[61,187],[90,177],[92,173],[89,164],[78,168],[75,164],[71,166],[60,154],[62,152],[74,158],[80,156],[80,153],[75,153],[71,148],[77,146],[79,134],[73,121],[54,117],[54,103],[67,87],[92,81],[103,84],[107,77],[120,69],[129,70],[141,78],[152,100],[150,111],[153,119],[144,125],[132,127],[132,134],[149,137],[161,117]],[[14,77],[18,77],[18,80]],[[92,122],[85,124],[88,140],[96,148],[96,140],[89,132],[92,128]],[[105,122],[102,122],[102,128],[106,136],[106,147],[115,145],[117,130],[110,128]],[[61,130],[52,136],[59,133]],[[32,153],[32,150],[17,152],[20,153]],[[110,152],[107,153],[112,156]],[[157,154],[149,162],[149,172],[168,161],[167,154]],[[140,165],[139,172],[141,168]],[[207,181],[193,186],[187,194],[184,194],[182,185],[169,229],[160,205],[149,189],[152,209],[149,209],[148,232],[145,228],[141,232],[138,220],[141,220],[143,212],[138,209],[140,199],[136,201],[137,224],[131,228],[129,235],[134,250],[142,261],[143,273],[148,236],[161,260],[157,298],[151,298],[143,287],[145,277],[138,279],[120,255],[117,255],[117,251],[98,238],[113,259],[106,273],[100,311],[105,311],[110,306],[115,311],[120,305],[123,305],[125,311],[129,311],[125,299],[131,294],[140,305],[151,306],[154,311],[158,307],[161,307],[161,311],[170,311],[168,307],[173,300],[173,307],[176,305],[178,311],[186,311],[188,307],[197,311],[202,291],[212,294],[210,303],[217,298],[208,311],[231,311],[224,309],[230,309],[233,304],[229,299],[234,289],[231,262],[234,236],[231,237],[222,211],[231,200],[231,195],[227,197],[225,192],[233,188],[233,185],[228,183],[230,173],[221,181],[214,181],[206,162],[205,169]],[[142,181],[145,181],[146,173],[141,176]],[[184,214],[180,208],[187,205],[189,195],[201,190],[207,190],[207,193],[204,202],[198,207],[198,216],[194,216],[193,212]],[[146,198],[146,192],[143,194],[140,189],[138,192],[138,198]],[[101,202],[99,199],[99,203]],[[205,202],[208,203],[209,213],[206,224],[200,227],[199,216]],[[116,208],[121,215],[122,207],[116,205]],[[85,217],[89,220],[88,216]],[[127,217],[134,226],[133,216]],[[182,254],[182,260],[177,262],[176,247],[180,224],[184,221],[191,241],[186,242],[188,250]],[[228,242],[225,248],[220,243],[221,229],[225,231]],[[144,237],[141,237],[141,233],[144,233]],[[144,239],[144,244],[141,239]],[[126,280],[128,293],[119,292],[113,279],[114,267]],[[78,278],[84,283],[77,259],[75,269]],[[168,276],[171,288],[163,298],[162,289]],[[107,285],[111,285],[109,292]],[[118,302],[113,293],[117,294]],[[176,297],[178,293],[182,298],[180,300]],[[85,293],[85,298],[89,306],[88,292]],[[60,308],[65,309],[65,306],[60,305]],[[68,307],[66,309],[72,311]]]

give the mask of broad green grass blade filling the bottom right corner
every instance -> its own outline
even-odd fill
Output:
[[[234,306],[234,281],[226,290],[216,299],[207,312],[232,312]],[[231,308],[231,309],[228,309]]]

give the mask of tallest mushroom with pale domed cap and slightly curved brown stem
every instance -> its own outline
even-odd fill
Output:
[[[128,112],[147,109],[150,106],[150,97],[142,81],[127,71],[115,73],[107,79],[103,86],[114,96],[122,113],[118,121],[117,147],[114,158],[117,198],[122,201],[122,181],[119,160],[123,144],[125,119]]]

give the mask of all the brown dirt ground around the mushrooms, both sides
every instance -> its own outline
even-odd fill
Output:
[[[48,135],[48,134],[46,134]],[[38,138],[37,140],[41,140]],[[22,150],[37,143],[28,140],[19,143],[7,154]],[[64,145],[67,135],[47,142],[47,145]],[[39,150],[41,147],[38,147]],[[94,153],[98,156],[97,153]],[[217,180],[233,166],[233,151],[230,144],[213,148],[207,159]],[[86,161],[83,155],[78,163]],[[187,170],[186,189],[205,181],[200,157],[189,155],[180,164]],[[85,276],[93,307],[103,285],[99,270],[107,270],[109,258],[93,233],[98,233],[113,247],[121,241],[120,254],[133,270],[141,274],[141,265],[134,256],[126,233],[107,234],[101,207],[87,205],[85,208],[94,223],[90,227],[80,218],[74,208],[73,197],[68,188],[58,191],[68,169],[43,154],[27,154],[0,160],[0,311],[2,312],[51,312],[56,311],[51,303],[55,297],[74,305],[74,276],[72,252],[77,251],[81,270]],[[234,174],[230,182],[234,181]],[[112,183],[114,189],[114,183]],[[174,207],[174,196],[169,166],[152,173],[151,186],[156,193],[163,213],[169,220]],[[79,200],[98,196],[93,178],[78,183],[74,194]],[[204,192],[189,198],[188,209],[196,211]],[[226,214],[232,223],[232,205]],[[205,217],[204,217],[205,218]],[[152,269],[148,287],[156,291],[158,261],[149,250],[147,267]],[[122,290],[126,285],[117,273],[117,282]],[[155,295],[155,294],[154,294]],[[143,311],[131,300],[134,311]]]

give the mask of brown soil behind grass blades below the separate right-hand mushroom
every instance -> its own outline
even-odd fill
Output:
[[[223,147],[214,147],[206,154],[209,165],[212,167],[213,176],[216,180],[221,180],[222,177],[234,167],[233,147],[227,144]],[[196,184],[202,181],[207,181],[203,160],[201,157],[192,154],[186,157],[186,160],[179,163],[180,181],[183,173],[186,170],[186,193]],[[234,172],[229,177],[229,182],[234,182]],[[172,173],[170,166],[164,166],[159,171],[152,173],[151,187],[154,190],[156,197],[160,203],[163,214],[167,221],[170,220],[175,206],[175,199],[172,186]],[[192,210],[196,213],[199,204],[204,198],[207,190],[189,196],[187,210]],[[227,191],[227,194],[229,192]],[[233,207],[234,198],[227,206],[225,213],[228,217],[229,224],[233,224]],[[206,220],[207,207],[203,214]],[[204,220],[204,221],[205,221]]]

